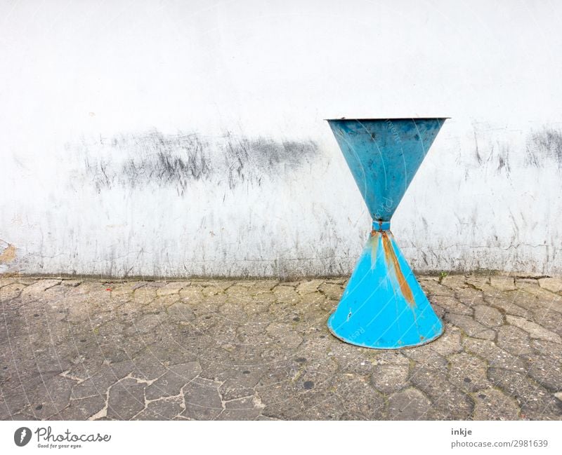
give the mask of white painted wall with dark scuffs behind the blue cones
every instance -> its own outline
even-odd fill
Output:
[[[393,218],[414,269],[562,273],[561,16],[3,1],[0,272],[349,273],[370,218],[322,119],[451,116]],[[158,161],[185,144],[198,179]]]

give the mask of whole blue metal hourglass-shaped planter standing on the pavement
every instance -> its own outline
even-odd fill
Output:
[[[367,203],[372,232],[329,330],[367,348],[428,343],[443,333],[390,231],[390,219],[445,118],[329,120]]]

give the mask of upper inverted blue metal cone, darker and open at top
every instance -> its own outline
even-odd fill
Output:
[[[390,221],[445,120],[328,120],[372,219]]]

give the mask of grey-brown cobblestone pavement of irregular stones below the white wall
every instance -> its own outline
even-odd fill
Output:
[[[0,278],[0,419],[561,419],[561,279],[419,281],[445,334],[375,351],[345,278]]]

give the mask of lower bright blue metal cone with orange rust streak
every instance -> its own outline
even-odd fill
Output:
[[[398,249],[390,223],[384,224],[386,230],[372,231],[328,328],[365,348],[429,343],[443,333],[443,323]]]

